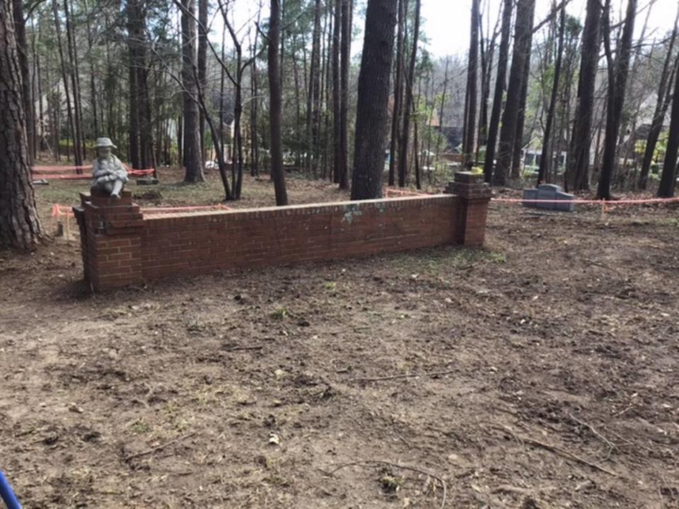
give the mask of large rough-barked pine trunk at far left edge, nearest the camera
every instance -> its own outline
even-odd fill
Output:
[[[45,237],[30,177],[21,61],[11,2],[0,1],[0,247],[34,249]]]

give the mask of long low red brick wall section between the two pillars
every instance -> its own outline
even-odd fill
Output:
[[[156,279],[452,244],[457,209],[443,194],[154,216],[144,220],[141,263]]]

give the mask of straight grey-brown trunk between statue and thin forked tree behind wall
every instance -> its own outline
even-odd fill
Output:
[[[182,0],[182,112],[184,117],[184,182],[202,182],[203,165],[200,149],[200,115],[196,102],[198,83],[197,68],[195,0]]]

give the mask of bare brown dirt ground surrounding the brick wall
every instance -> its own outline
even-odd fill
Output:
[[[0,468],[25,508],[679,508],[678,226],[492,205],[484,250],[105,296],[77,242],[0,252]]]

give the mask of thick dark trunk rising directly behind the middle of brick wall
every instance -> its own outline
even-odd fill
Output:
[[[352,199],[382,195],[397,0],[368,0],[356,108]]]

